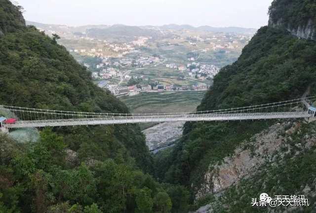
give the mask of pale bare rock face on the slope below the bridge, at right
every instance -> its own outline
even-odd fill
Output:
[[[223,190],[237,181],[247,178],[256,172],[256,169],[265,162],[273,160],[274,152],[281,148],[283,137],[288,123],[275,124],[268,130],[253,136],[250,142],[244,142],[233,156],[225,157],[223,162],[209,165],[209,170],[204,175],[204,183],[195,198]],[[301,123],[294,123],[286,132],[294,132]]]

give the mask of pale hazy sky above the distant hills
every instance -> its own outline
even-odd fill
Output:
[[[28,21],[44,24],[260,28],[272,0],[12,0]]]

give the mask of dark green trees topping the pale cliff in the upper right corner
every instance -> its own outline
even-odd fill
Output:
[[[270,19],[274,23],[281,21],[285,28],[298,28],[308,24],[316,28],[316,2],[315,0],[274,0],[269,7]],[[316,37],[316,35],[314,35]]]

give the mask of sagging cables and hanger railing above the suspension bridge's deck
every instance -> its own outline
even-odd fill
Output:
[[[72,111],[61,111],[61,110],[48,110],[48,109],[35,109],[35,108],[24,108],[24,107],[14,107],[14,106],[2,106],[1,110],[7,110],[16,115],[18,121],[42,121],[42,120],[72,120],[72,119],[122,119],[123,117],[129,119],[128,117],[143,117],[151,116],[157,117],[175,117],[175,116],[194,116],[194,115],[214,115],[219,117],[221,114],[241,114],[241,113],[274,113],[274,112],[290,112],[295,110],[295,108],[304,107],[303,102],[306,98],[298,98],[287,101],[280,101],[275,103],[238,107],[231,109],[216,109],[210,111],[200,111],[200,112],[185,112],[185,113],[157,113],[157,114],[122,114],[122,113],[93,113],[93,112],[72,112]],[[316,96],[311,96],[308,98],[310,102],[316,100]],[[161,118],[162,118],[161,117]],[[179,118],[180,118],[179,117]]]

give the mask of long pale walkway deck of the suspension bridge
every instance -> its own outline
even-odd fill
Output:
[[[199,114],[199,115],[167,115],[167,116],[128,116],[104,117],[90,119],[67,120],[37,120],[18,121],[15,124],[6,124],[8,128],[44,127],[44,126],[75,126],[75,125],[104,125],[142,122],[200,122],[200,121],[241,121],[262,119],[297,119],[309,118],[307,112],[278,112],[278,113],[238,113],[238,114]]]

